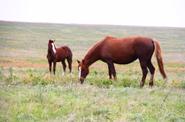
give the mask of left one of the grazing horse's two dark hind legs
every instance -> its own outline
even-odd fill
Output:
[[[139,61],[140,61],[140,66],[141,66],[142,74],[143,74],[141,82],[140,82],[140,87],[143,87],[145,84],[147,73],[148,73],[147,63],[145,61],[142,61],[141,59]]]

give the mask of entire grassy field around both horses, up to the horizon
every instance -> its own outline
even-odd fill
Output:
[[[77,59],[105,36],[144,35],[160,41],[168,82],[139,88],[138,61],[116,65],[117,81],[107,65],[93,64],[85,84],[78,82]],[[48,39],[73,51],[73,73],[48,72]],[[0,121],[185,121],[185,28],[64,25],[0,21]]]

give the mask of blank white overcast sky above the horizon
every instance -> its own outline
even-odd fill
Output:
[[[185,27],[185,0],[0,0],[0,20]]]

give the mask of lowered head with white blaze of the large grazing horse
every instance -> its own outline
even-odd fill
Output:
[[[89,74],[89,68],[85,63],[85,60],[82,60],[81,62],[77,60],[78,62],[78,78],[81,82],[81,84],[84,82],[86,76]]]

